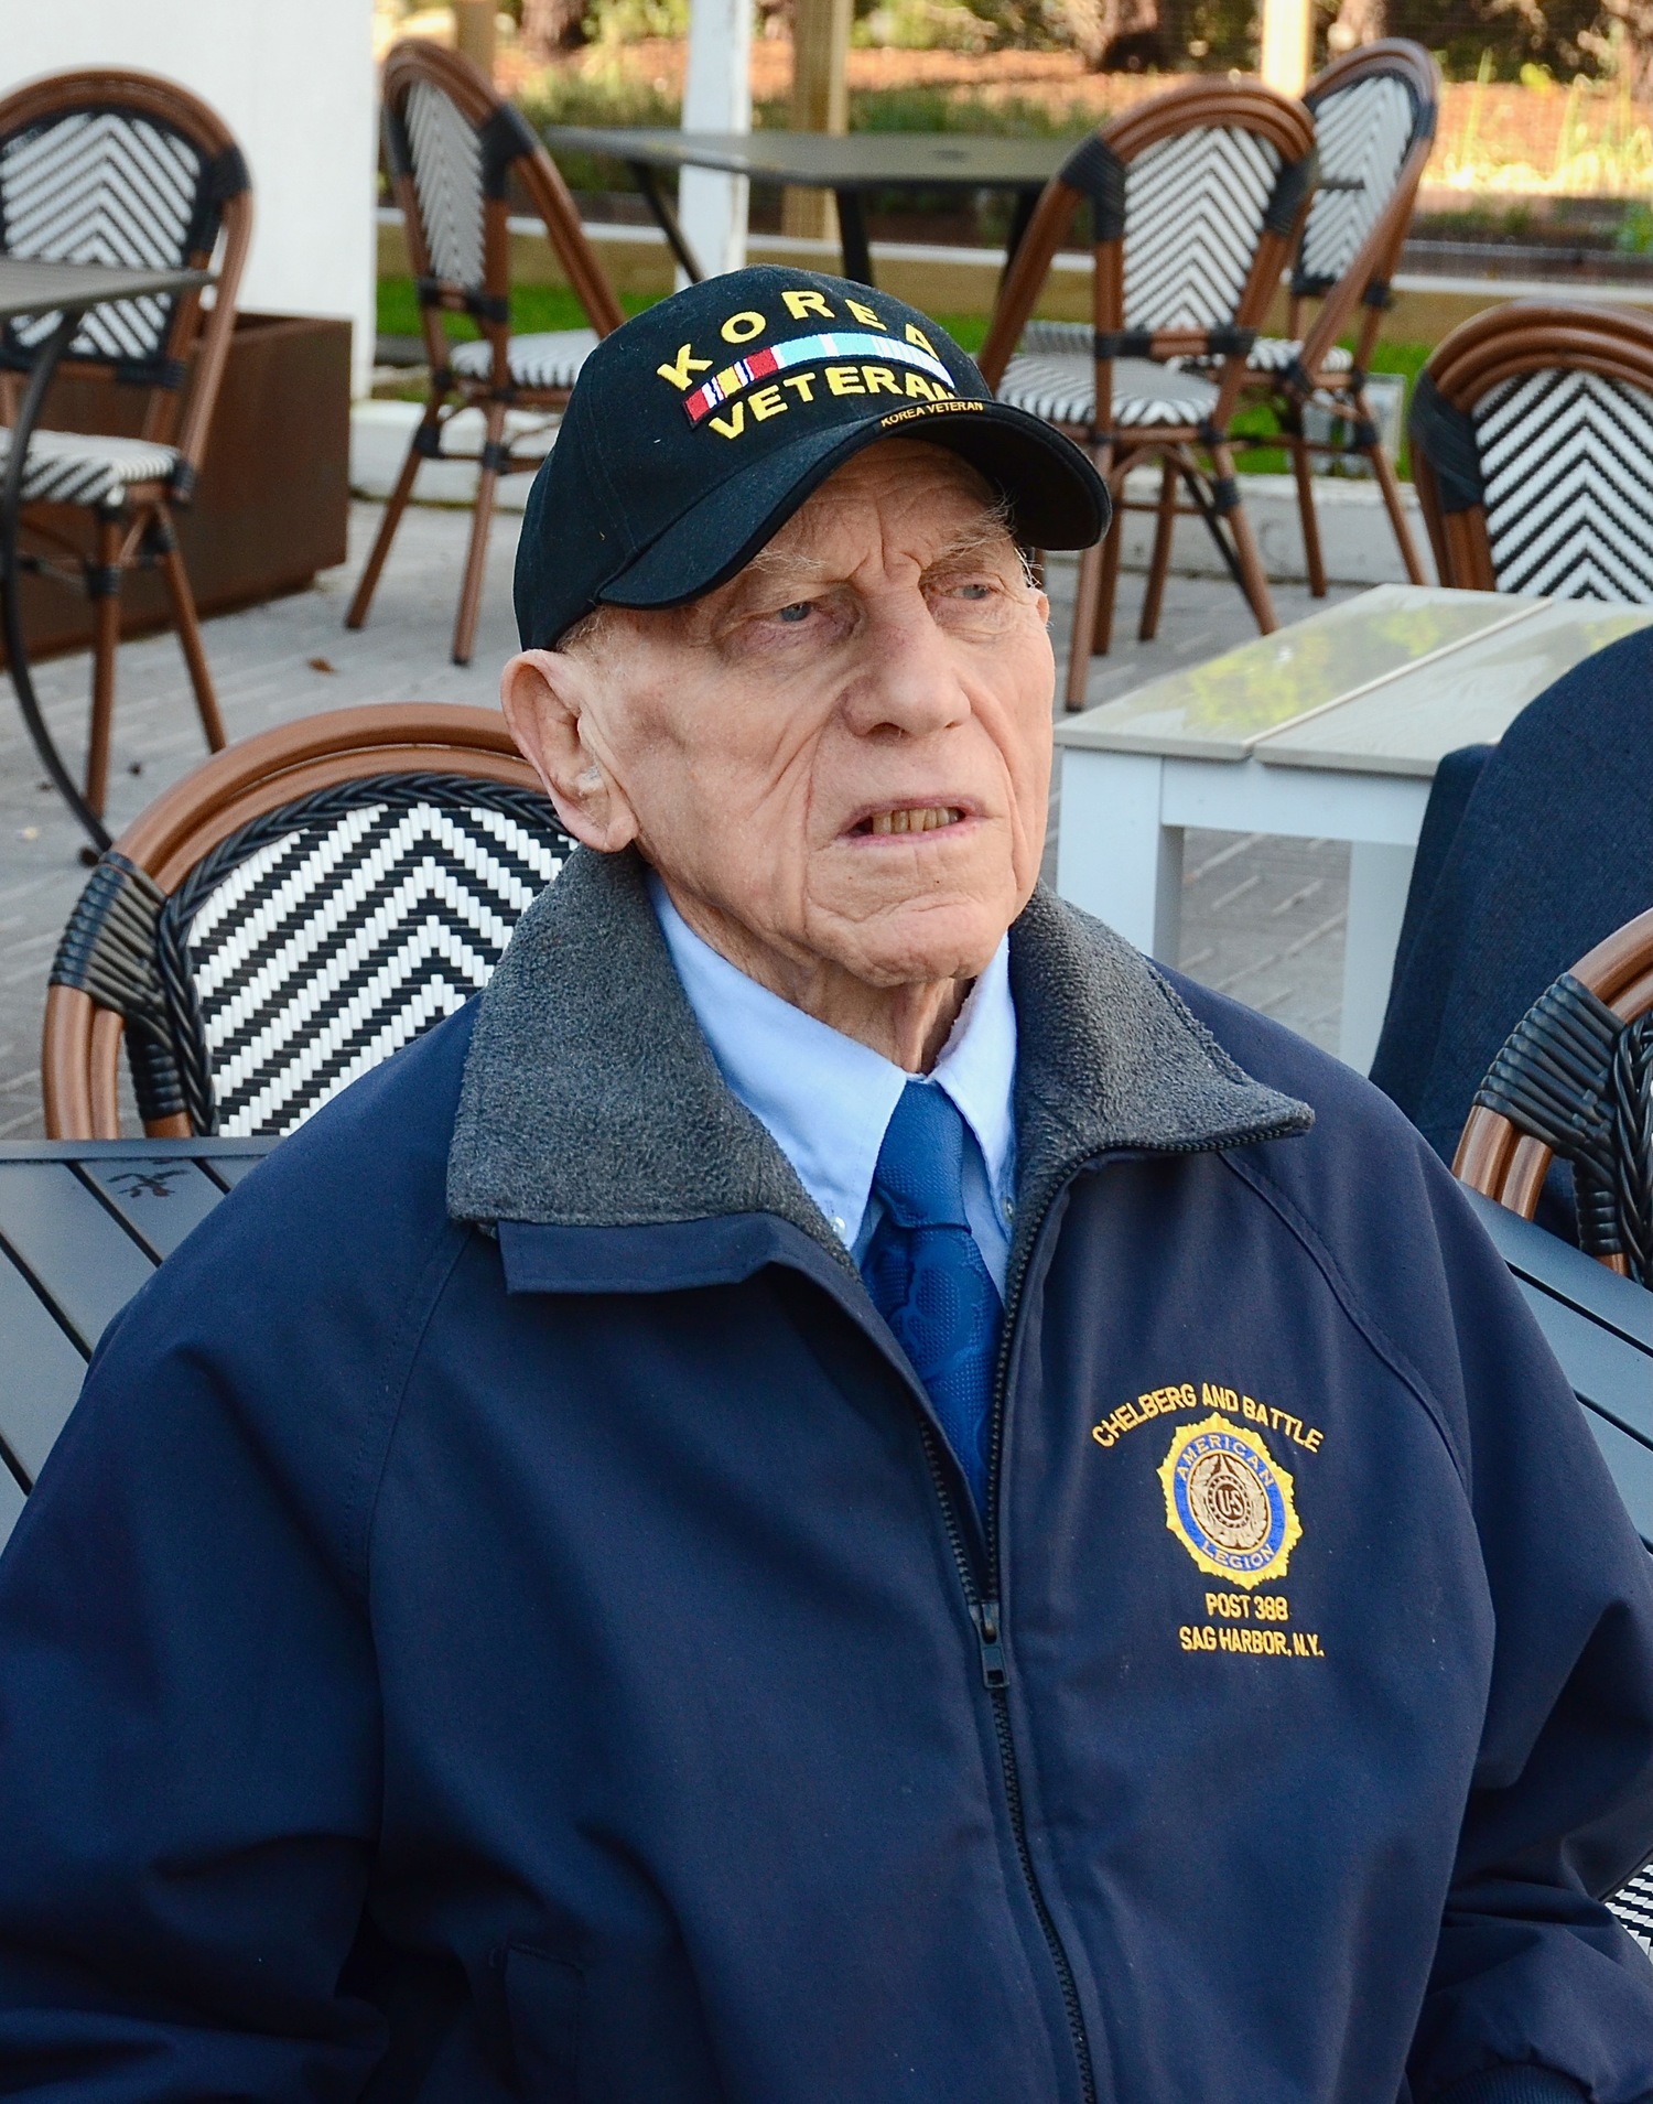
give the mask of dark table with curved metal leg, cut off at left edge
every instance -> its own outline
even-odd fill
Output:
[[[19,513],[23,509],[23,469],[29,459],[29,440],[46,406],[46,389],[67,351],[69,343],[93,307],[107,307],[118,299],[160,297],[164,292],[187,292],[208,282],[208,271],[200,269],[126,269],[116,263],[32,263],[21,257],[0,255],[0,324],[21,322],[32,316],[57,316],[57,322],[34,353],[23,400],[17,408],[17,423],[11,431],[11,452],[6,454],[6,478],[0,484],[0,616],[4,616],[6,663],[11,682],[17,688],[17,705],[29,726],[34,749],[57,785],[57,793],[82,823],[93,846],[107,848],[109,833],[103,821],[90,810],[63,755],[53,743],[40,701],[34,692],[29,652],[23,642],[23,606],[19,598]]]

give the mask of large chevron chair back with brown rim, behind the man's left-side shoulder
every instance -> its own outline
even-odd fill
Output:
[[[109,848],[46,993],[53,1138],[280,1136],[484,987],[572,839],[494,709],[233,745]]]

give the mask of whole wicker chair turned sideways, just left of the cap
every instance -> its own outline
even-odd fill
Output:
[[[587,353],[599,337],[620,326],[625,313],[591,252],[551,156],[469,59],[408,38],[385,57],[383,90],[385,160],[408,229],[431,391],[345,627],[360,629],[368,619],[379,572],[412,497],[421,461],[477,461],[482,473],[471,547],[454,616],[454,663],[469,665],[498,478],[532,473],[543,457],[511,450],[507,410],[545,410],[547,417],[559,410]],[[551,248],[591,328],[511,335],[511,179],[545,221]],[[482,335],[469,343],[450,343],[444,313],[469,313]],[[444,431],[463,408],[479,408],[484,414],[477,452],[450,452],[444,446]]]

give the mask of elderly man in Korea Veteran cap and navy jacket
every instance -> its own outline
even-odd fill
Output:
[[[0,1567],[0,2089],[1634,2104],[1653,1599],[1361,1079],[1037,886],[1089,463],[759,269],[591,358],[488,993]]]

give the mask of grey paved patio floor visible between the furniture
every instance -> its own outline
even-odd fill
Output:
[[[475,656],[452,665],[458,568],[469,515],[414,507],[391,555],[372,621],[343,627],[379,507],[351,515],[351,562],[315,587],[206,627],[206,650],[231,739],[318,709],[358,703],[465,701],[492,705],[501,663],[515,648],[511,564],[517,515],[494,526]],[[1052,562],[1054,635],[1066,650],[1073,558]],[[1354,587],[1333,587],[1346,598]],[[1176,665],[1199,663],[1251,635],[1239,593],[1220,579],[1176,576],[1161,633],[1134,640],[1142,579],[1121,581],[1121,640],[1091,671],[1089,699],[1106,701]],[[1300,585],[1277,587],[1281,621],[1314,610]],[[1327,604],[1327,602],[1321,602]],[[69,764],[84,751],[88,661],[38,667],[36,684]],[[109,829],[118,835],[145,804],[204,757],[200,724],[177,644],[156,635],[120,654]],[[1054,812],[1060,818],[1060,812]],[[63,922],[86,882],[80,833],[46,785],[21,717],[0,680],[0,1138],[34,1138],[40,1121],[40,1016]],[[1190,833],[1182,911],[1182,966],[1203,983],[1266,1010],[1321,1046],[1335,1046],[1348,850],[1338,842]]]

